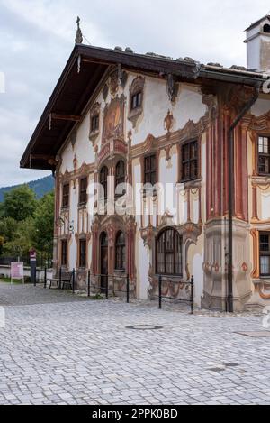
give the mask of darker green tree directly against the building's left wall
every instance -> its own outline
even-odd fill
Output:
[[[46,194],[38,202],[33,216],[31,239],[39,252],[52,256],[54,227],[54,192]]]

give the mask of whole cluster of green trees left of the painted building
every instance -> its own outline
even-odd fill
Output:
[[[34,247],[52,258],[54,192],[37,198],[27,185],[4,193],[0,204],[0,257],[28,257]]]

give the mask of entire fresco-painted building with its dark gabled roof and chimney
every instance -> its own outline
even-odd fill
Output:
[[[177,298],[193,275],[202,307],[270,306],[269,16],[246,42],[247,69],[226,69],[83,45],[78,27],[21,161],[55,174],[54,266],[78,289],[129,274],[148,299],[161,274]]]

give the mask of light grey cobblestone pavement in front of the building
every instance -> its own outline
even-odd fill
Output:
[[[41,288],[26,305],[33,287],[7,289],[0,284],[0,303],[10,304],[0,404],[270,404],[270,337],[235,333],[265,330],[262,317],[191,316]],[[163,328],[126,328],[146,324]]]

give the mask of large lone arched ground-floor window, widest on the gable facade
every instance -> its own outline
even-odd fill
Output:
[[[158,235],[157,274],[182,276],[182,238],[173,228]]]

